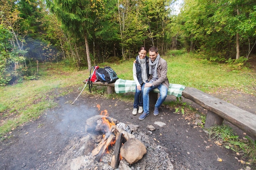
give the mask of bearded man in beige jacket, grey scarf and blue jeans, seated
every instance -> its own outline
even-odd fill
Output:
[[[149,50],[149,74],[150,82],[146,83],[143,90],[143,110],[139,120],[145,119],[149,115],[149,92],[158,88],[160,91],[159,98],[155,104],[154,115],[159,114],[159,107],[167,97],[169,81],[167,78],[167,62],[160,57],[158,49],[151,47]]]

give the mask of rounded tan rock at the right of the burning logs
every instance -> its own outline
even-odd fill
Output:
[[[128,139],[120,149],[121,157],[130,165],[139,161],[146,152],[146,146],[136,138]]]

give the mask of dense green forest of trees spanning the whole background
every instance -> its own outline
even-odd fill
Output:
[[[36,79],[39,63],[90,69],[135,58],[141,46],[243,66],[255,44],[255,0],[0,1],[1,86]]]

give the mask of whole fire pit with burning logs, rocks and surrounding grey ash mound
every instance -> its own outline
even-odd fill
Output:
[[[99,107],[100,109],[100,107]],[[173,170],[169,155],[139,126],[109,117],[107,110],[86,120],[87,136],[67,146],[60,169]]]

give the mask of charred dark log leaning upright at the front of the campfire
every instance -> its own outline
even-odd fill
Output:
[[[122,146],[122,141],[123,141],[123,134],[117,132],[115,149],[114,149],[114,153],[113,153],[111,164],[110,164],[110,166],[112,166],[113,168],[117,168],[119,166],[119,155],[120,155],[120,148]]]

